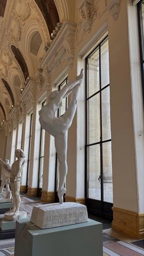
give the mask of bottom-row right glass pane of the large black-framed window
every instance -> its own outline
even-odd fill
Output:
[[[112,203],[113,190],[112,190],[111,142],[103,143],[103,184],[104,184],[104,201]]]

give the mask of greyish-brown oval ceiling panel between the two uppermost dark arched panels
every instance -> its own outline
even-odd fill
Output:
[[[31,49],[30,49],[31,53],[34,54],[35,56],[37,56],[38,54],[38,50],[40,49],[41,43],[42,43],[41,36],[40,36],[40,33],[37,31],[32,36]]]

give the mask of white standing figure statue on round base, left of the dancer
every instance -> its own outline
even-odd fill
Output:
[[[10,172],[10,189],[13,197],[13,207],[10,210],[10,213],[13,213],[14,215],[19,214],[20,209],[20,186],[25,158],[22,149],[16,149],[15,156],[17,160],[12,164],[12,169]]]

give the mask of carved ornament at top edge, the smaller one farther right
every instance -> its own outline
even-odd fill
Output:
[[[107,10],[110,11],[110,14],[113,16],[113,20],[118,19],[118,15],[120,12],[120,3],[121,0],[110,0],[109,4],[107,5]]]

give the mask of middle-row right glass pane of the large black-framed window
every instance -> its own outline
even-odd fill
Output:
[[[103,141],[111,139],[109,87],[101,92]]]

